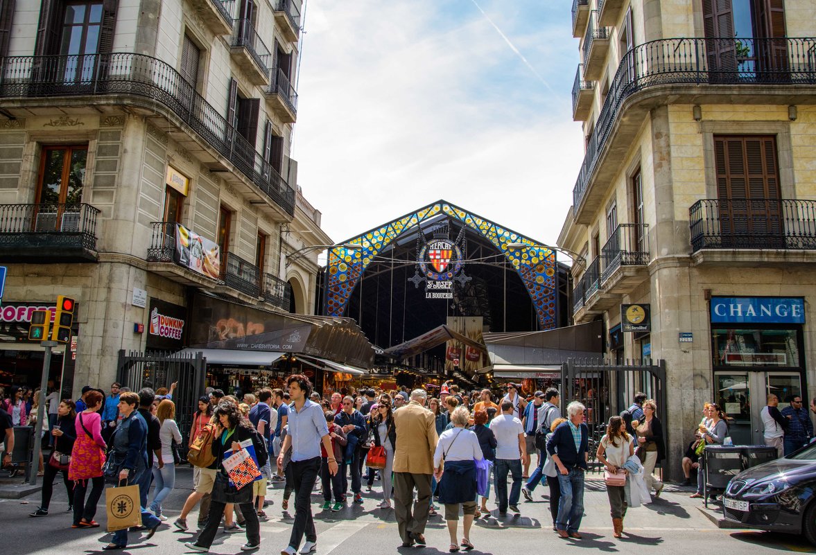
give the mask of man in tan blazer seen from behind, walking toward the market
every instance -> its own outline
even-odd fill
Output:
[[[397,446],[394,450],[394,512],[402,546],[425,545],[425,525],[431,504],[433,452],[437,449],[434,416],[424,407],[428,395],[413,390],[410,403],[394,411]],[[414,488],[417,499],[413,513]]]

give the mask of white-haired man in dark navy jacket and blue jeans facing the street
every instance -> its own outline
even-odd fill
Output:
[[[566,407],[568,421],[562,422],[547,442],[547,452],[558,469],[561,500],[556,528],[561,538],[580,540],[583,517],[583,473],[588,469],[589,429],[583,423],[586,407],[573,401]]]

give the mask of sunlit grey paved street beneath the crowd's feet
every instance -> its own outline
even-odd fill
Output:
[[[184,497],[190,491],[192,472],[187,468],[179,470],[177,487],[166,501],[166,513],[171,518],[170,525],[178,514]],[[45,518],[29,518],[28,513],[38,506],[39,496],[24,500],[0,500],[0,522],[3,534],[0,553],[21,553],[12,542],[24,542],[22,553],[93,553],[100,551],[109,535],[99,530],[73,530],[70,517],[64,513],[67,508],[64,487],[55,487],[55,499],[51,503],[51,514]],[[401,548],[397,535],[397,524],[393,510],[377,509],[379,482],[375,491],[364,494],[362,506],[353,505],[341,513],[320,512],[320,496],[313,496],[313,510],[316,515],[318,550],[320,555],[357,555],[372,553],[411,553],[428,555],[448,553],[448,535],[441,516],[432,517],[426,537],[428,547]],[[521,503],[521,517],[497,519],[481,518],[471,534],[476,545],[472,553],[525,553],[533,549],[558,549],[558,553],[582,553],[593,550],[605,553],[650,553],[659,548],[660,555],[675,553],[760,553],[801,552],[816,553],[804,540],[787,535],[757,531],[720,530],[697,509],[698,500],[690,500],[687,492],[667,491],[654,504],[632,509],[626,518],[628,535],[623,540],[612,538],[609,506],[601,482],[590,483],[585,497],[586,516],[581,531],[584,539],[559,540],[552,532],[548,518],[548,504],[541,499],[546,488],[534,492],[534,503]],[[259,553],[278,553],[286,546],[294,511],[281,511],[282,486],[275,484],[269,489],[273,505],[266,509],[269,519],[261,522],[262,547]],[[104,496],[103,496],[104,500]],[[490,507],[494,507],[492,501]],[[100,504],[100,509],[104,506]],[[97,513],[103,523],[104,513]],[[195,522],[195,513],[190,522]],[[9,534],[14,531],[14,534]],[[134,534],[131,534],[133,536]],[[13,540],[12,540],[13,537]],[[132,540],[131,548],[123,553],[186,553],[184,542],[193,534],[184,533],[172,526],[162,526],[149,543]],[[219,534],[211,553],[242,553],[239,547],[246,542],[243,534]],[[145,548],[149,547],[149,551]]]

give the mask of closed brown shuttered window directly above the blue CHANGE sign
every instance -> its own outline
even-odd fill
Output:
[[[714,159],[723,243],[746,236],[781,240],[776,137],[715,135]]]

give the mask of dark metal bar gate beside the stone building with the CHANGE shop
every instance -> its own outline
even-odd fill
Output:
[[[591,458],[595,456],[597,443],[605,434],[610,416],[626,410],[635,394],[643,392],[658,405],[656,416],[663,424],[663,441],[667,447],[662,465],[663,468],[671,468],[665,388],[665,360],[659,360],[657,364],[651,360],[607,364],[602,359],[567,359],[561,365],[562,404],[565,407],[567,403],[579,401],[587,407]]]

